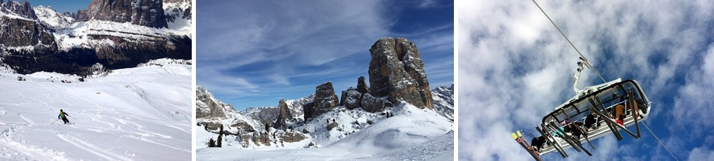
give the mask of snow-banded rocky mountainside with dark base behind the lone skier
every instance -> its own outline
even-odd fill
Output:
[[[0,5],[0,63],[20,74],[86,76],[96,63],[111,70],[158,58],[192,59],[190,19],[177,16],[174,28],[166,28],[161,2],[96,0],[89,10],[58,14],[49,6],[7,1]],[[166,10],[190,14],[190,2],[182,2]]]

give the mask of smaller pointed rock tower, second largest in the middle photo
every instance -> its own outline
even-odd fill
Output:
[[[332,87],[332,82],[326,82],[318,85],[315,90],[315,101],[313,106],[303,105],[305,120],[315,118],[318,115],[327,113],[328,111],[339,105],[335,88]]]

